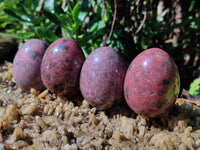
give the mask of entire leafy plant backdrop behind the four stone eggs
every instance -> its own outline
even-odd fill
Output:
[[[181,88],[200,94],[199,0],[2,0],[0,36],[50,44],[75,39],[86,56],[100,46],[130,63],[147,48],[166,50],[176,61]]]

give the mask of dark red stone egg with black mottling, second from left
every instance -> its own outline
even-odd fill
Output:
[[[60,96],[72,96],[79,89],[79,76],[85,56],[70,38],[54,41],[46,50],[41,77],[45,87]]]

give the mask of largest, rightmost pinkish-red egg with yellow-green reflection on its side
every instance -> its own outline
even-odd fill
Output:
[[[124,81],[124,95],[137,114],[155,118],[175,103],[180,88],[174,60],[159,48],[140,53],[130,64]]]

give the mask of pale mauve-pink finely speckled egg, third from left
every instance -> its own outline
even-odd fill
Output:
[[[98,109],[108,109],[123,97],[123,83],[127,65],[111,47],[94,50],[85,60],[80,89],[83,97]]]

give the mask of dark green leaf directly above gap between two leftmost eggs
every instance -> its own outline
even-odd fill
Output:
[[[45,27],[36,27],[35,31],[40,39],[47,42],[48,44],[51,44],[55,40],[57,40],[59,37],[54,34],[51,30],[48,30]]]

